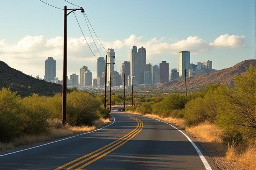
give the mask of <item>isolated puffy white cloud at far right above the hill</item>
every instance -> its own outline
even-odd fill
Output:
[[[243,35],[238,36],[224,34],[216,38],[214,42],[210,43],[210,46],[223,48],[242,48],[245,47],[244,38],[245,37]]]

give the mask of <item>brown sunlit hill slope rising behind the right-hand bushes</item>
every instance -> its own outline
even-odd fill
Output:
[[[197,77],[188,77],[187,78],[187,88],[188,89],[198,89],[204,88],[210,83],[214,84],[216,82],[224,83],[229,86],[234,85],[235,75],[241,75],[244,71],[249,68],[249,65],[256,65],[256,59],[248,59],[238,64],[234,65],[231,68],[225,68],[219,71],[203,74]],[[178,79],[166,83],[160,83],[157,85],[158,88],[171,88],[174,90],[184,90],[185,80]]]

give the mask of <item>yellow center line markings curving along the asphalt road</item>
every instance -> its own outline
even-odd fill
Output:
[[[136,117],[130,116],[132,119],[137,121],[137,127],[132,130],[131,132],[127,133],[125,136],[122,136],[121,138],[117,139],[114,142],[111,142],[110,144],[99,148],[98,150],[95,150],[91,153],[88,153],[84,156],[81,156],[80,158],[77,158],[73,161],[68,162],[67,164],[64,164],[55,170],[61,170],[61,169],[76,169],[81,170],[83,167],[86,167],[87,165],[97,161],[98,159],[101,159],[102,157],[108,155],[113,150],[116,150],[118,147],[122,146],[134,136],[136,136],[140,131],[143,129],[143,122],[140,119],[137,119]]]

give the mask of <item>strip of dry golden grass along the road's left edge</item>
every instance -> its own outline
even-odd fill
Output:
[[[0,142],[0,151],[92,131],[92,130],[95,130],[97,127],[102,127],[108,124],[109,122],[111,122],[109,119],[99,119],[94,122],[93,126],[74,127],[70,125],[62,126],[61,121],[52,120],[51,122],[52,127],[49,129],[49,133],[44,135],[37,135],[37,136],[35,135],[20,136],[19,138],[16,138],[12,142],[8,142],[8,143]]]

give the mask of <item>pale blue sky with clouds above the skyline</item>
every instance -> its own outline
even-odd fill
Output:
[[[58,8],[78,8],[64,0],[43,0]],[[81,6],[104,48],[114,48],[115,70],[130,61],[133,45],[147,51],[147,63],[178,68],[178,52],[190,51],[192,63],[212,61],[229,68],[255,59],[254,0],[69,0]],[[64,10],[40,0],[0,0],[0,61],[25,74],[44,78],[44,61],[56,60],[62,77]],[[84,36],[96,57],[106,51],[84,15],[75,11]],[[67,75],[86,65],[96,77],[91,53],[73,13],[67,17]],[[170,71],[169,71],[170,72]]]

